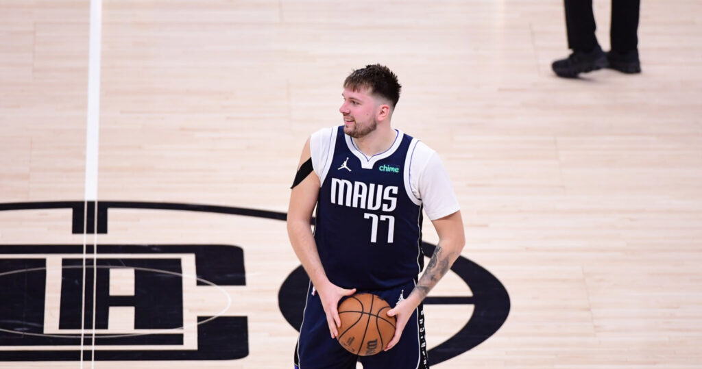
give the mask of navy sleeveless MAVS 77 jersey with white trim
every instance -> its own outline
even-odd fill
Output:
[[[394,152],[366,158],[352,152],[343,126],[336,130],[331,167],[319,189],[314,240],[337,286],[388,289],[416,279],[423,268],[422,206],[410,199],[404,180],[412,137],[397,131],[395,140]]]

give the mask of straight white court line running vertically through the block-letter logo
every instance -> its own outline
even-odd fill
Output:
[[[91,341],[91,368],[95,368],[95,281],[97,280],[98,259],[98,143],[100,133],[100,55],[102,53],[102,0],[90,2],[90,45],[88,60],[88,114],[86,122],[86,183],[85,211],[88,201],[95,201],[93,209],[93,333]],[[86,289],[86,233],[88,217],[84,217],[83,227],[83,295],[81,311],[81,369],[85,337],[85,289]]]

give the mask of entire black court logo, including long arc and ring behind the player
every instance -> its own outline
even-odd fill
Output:
[[[0,203],[0,211],[56,208],[72,210],[73,234],[82,234],[84,227],[88,234],[107,234],[108,213],[114,208],[286,219],[284,213],[265,210],[183,203]],[[425,255],[431,255],[434,247],[424,243]],[[88,245],[90,257],[85,267],[83,252],[83,245],[0,245],[0,361],[79,361],[81,330],[92,332],[93,322],[95,361],[234,360],[249,355],[249,329],[256,328],[249,327],[246,316],[192,316],[185,309],[188,297],[184,292],[245,286],[244,248],[100,244],[93,263],[93,249]],[[479,265],[461,257],[452,271],[470,286],[472,296],[428,297],[425,304],[473,304],[475,309],[456,335],[429,351],[430,364],[462,354],[489,338],[510,309],[505,288]],[[300,266],[279,291],[282,314],[296,329],[305,300],[300,291],[306,291],[308,283]],[[228,298],[232,304],[241,303]],[[119,314],[126,314],[131,324],[114,325],[112,317]],[[93,342],[88,333],[83,340],[84,345]],[[291,351],[293,346],[291,343]],[[83,354],[84,360],[91,360],[91,351]]]

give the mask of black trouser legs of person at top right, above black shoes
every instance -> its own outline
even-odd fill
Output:
[[[574,51],[590,51],[597,46],[592,0],[564,0],[568,47]],[[609,38],[612,50],[620,53],[637,48],[640,0],[612,0]]]

